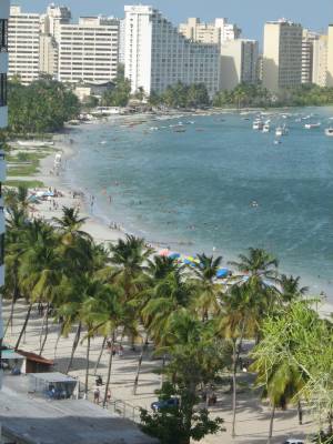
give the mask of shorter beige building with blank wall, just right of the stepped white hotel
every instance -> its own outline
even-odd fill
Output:
[[[221,44],[220,89],[233,90],[240,83],[258,83],[256,40],[229,40]]]

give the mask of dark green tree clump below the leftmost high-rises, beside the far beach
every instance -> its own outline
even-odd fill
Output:
[[[12,133],[58,131],[80,112],[78,98],[60,82],[41,79],[23,85],[13,80],[8,88],[9,131]]]

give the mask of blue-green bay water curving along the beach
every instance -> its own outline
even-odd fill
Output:
[[[333,302],[333,138],[324,134],[333,109],[289,112],[265,117],[272,128],[287,124],[281,144],[274,131],[252,130],[253,114],[82,125],[65,176],[94,196],[92,213],[107,223],[225,262],[264,248]],[[184,132],[174,131],[180,121]],[[317,121],[320,129],[304,129]]]

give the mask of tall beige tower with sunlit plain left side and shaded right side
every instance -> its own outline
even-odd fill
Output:
[[[273,92],[302,83],[301,24],[285,19],[265,23],[263,85]]]

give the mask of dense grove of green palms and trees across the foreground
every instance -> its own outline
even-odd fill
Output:
[[[226,282],[215,279],[221,258],[198,255],[191,266],[155,255],[144,240],[131,235],[108,246],[97,244],[83,230],[77,210],[63,208],[51,223],[30,218],[27,190],[8,190],[6,286],[11,301],[27,301],[27,315],[18,335],[20,346],[36,304],[47,306],[40,331],[42,353],[48,342],[49,317],[58,321],[59,334],[74,329],[67,372],[72,367],[80,341],[87,344],[84,391],[90,391],[90,340],[118,337],[142,347],[133,381],[140,383],[148,343],[163,360],[161,402],[179,400],[173,407],[141,412],[142,428],[162,444],[189,444],[221,430],[222,420],[211,417],[210,401],[225,372],[231,384],[231,433],[236,434],[238,384],[244,340],[256,344],[250,369],[262,397],[270,401],[269,443],[276,408],[306,401],[331,438],[333,406],[333,325],[321,320],[299,278],[280,274],[278,260],[261,249],[249,249],[232,262],[234,274]],[[52,312],[49,310],[52,307]],[[83,337],[82,337],[83,336]],[[56,344],[57,349],[57,344]],[[57,351],[54,351],[57,354]],[[112,383],[113,353],[109,355],[103,405]],[[95,371],[99,362],[95,364]],[[225,405],[224,405],[225,407]],[[323,433],[322,435],[323,436]]]

